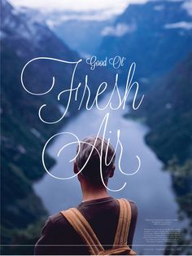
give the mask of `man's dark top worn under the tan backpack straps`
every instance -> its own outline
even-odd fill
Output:
[[[132,210],[129,228],[128,245],[132,247],[133,235],[137,222],[137,206],[129,201]],[[77,206],[89,225],[94,230],[104,249],[110,249],[116,235],[119,219],[119,204],[111,196],[82,202]],[[47,219],[42,228],[41,238],[35,246],[36,255],[87,255],[89,254],[81,237],[76,233],[68,220],[58,213]]]

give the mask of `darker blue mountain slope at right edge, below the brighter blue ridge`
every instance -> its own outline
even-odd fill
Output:
[[[151,127],[146,142],[159,159],[192,159],[192,52],[146,94],[139,115]]]

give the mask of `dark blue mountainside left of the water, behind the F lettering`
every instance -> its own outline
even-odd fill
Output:
[[[6,0],[1,0],[1,11],[1,243],[14,243],[15,237],[19,236],[15,236],[15,232],[25,228],[24,236],[32,236],[30,242],[34,243],[37,237],[33,237],[32,227],[28,225],[41,222],[41,218],[48,214],[33,191],[33,183],[46,174],[41,164],[41,151],[50,136],[70,118],[78,115],[76,108],[80,104],[83,89],[79,89],[79,97],[68,109],[68,116],[58,124],[47,125],[40,121],[38,109],[42,104],[47,104],[43,113],[46,120],[56,121],[61,117],[67,100],[63,97],[58,102],[57,96],[60,91],[69,87],[74,67],[48,60],[39,60],[31,65],[24,75],[29,91],[47,91],[52,77],[55,77],[55,87],[51,93],[41,96],[30,95],[24,90],[20,73],[24,64],[39,56],[68,61],[80,60],[80,56],[63,43],[46,23],[29,15],[30,11],[15,9]],[[74,77],[74,84],[84,84],[85,74],[88,74],[91,99],[99,84],[111,79],[110,74],[100,72],[99,68],[96,72],[97,76],[83,60]],[[47,154],[46,164],[48,168],[55,164],[55,160]],[[41,226],[38,225],[38,228]],[[39,235],[39,230],[37,233]],[[24,236],[20,236],[18,244],[25,241]],[[25,243],[28,244],[29,241],[26,240]],[[25,251],[22,254],[33,254],[33,248],[23,249]],[[2,247],[2,254],[7,253],[16,254],[16,249],[10,251],[9,247]],[[17,251],[17,254],[20,253]]]

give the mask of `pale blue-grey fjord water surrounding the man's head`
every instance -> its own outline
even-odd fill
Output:
[[[107,102],[108,95],[103,98],[100,105]],[[116,99],[114,99],[116,101]],[[137,169],[136,155],[141,159],[141,169],[137,174],[125,176],[116,168],[116,174],[109,182],[111,189],[121,188],[124,182],[126,187],[120,192],[110,192],[114,197],[125,197],[137,203],[138,221],[137,231],[134,238],[134,248],[138,254],[163,254],[164,243],[153,243],[156,249],[151,250],[151,244],[146,244],[143,238],[147,228],[154,228],[154,223],[150,219],[174,219],[167,227],[179,227],[177,219],[177,203],[171,189],[171,178],[167,172],[162,170],[163,164],[155,157],[154,152],[146,146],[144,135],[147,128],[137,121],[124,119],[123,114],[127,110],[98,111],[93,108],[84,111],[64,126],[61,131],[72,132],[79,139],[98,133],[98,129],[103,121],[103,117],[110,112],[107,124],[106,138],[111,139],[112,145],[116,146],[116,132],[120,129],[120,140],[124,151],[122,155],[121,167],[124,172],[133,173]],[[101,133],[102,134],[102,133]],[[57,159],[57,164],[51,170],[51,174],[59,177],[72,176],[72,162],[69,162],[76,152],[76,145],[63,149],[57,157],[59,150],[68,142],[72,142],[71,135],[61,135],[51,144],[48,151],[50,155]],[[118,167],[118,157],[116,156],[116,167]],[[55,214],[59,210],[75,206],[81,202],[81,188],[76,177],[74,179],[59,180],[46,174],[40,182],[34,186],[35,191],[41,197],[44,205],[50,214]],[[150,245],[150,246],[148,246]]]

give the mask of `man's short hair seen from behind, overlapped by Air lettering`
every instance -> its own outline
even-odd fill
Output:
[[[102,174],[104,182],[107,181],[108,176],[115,164],[116,152],[108,143],[106,139],[98,136],[91,136],[83,139],[78,145],[76,152],[76,166],[78,170],[81,170],[81,174],[89,183],[93,185],[102,185],[102,179],[100,174],[100,155],[103,143],[103,157],[102,157]],[[80,146],[80,148],[79,148]],[[94,149],[93,149],[94,147]],[[91,153],[91,151],[93,152]],[[91,155],[90,155],[91,153]],[[105,161],[107,154],[107,162]],[[89,156],[90,155],[90,156]],[[87,161],[89,157],[89,161]],[[85,162],[87,161],[86,165]]]

